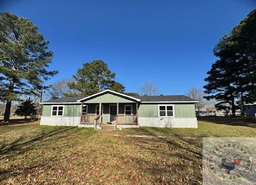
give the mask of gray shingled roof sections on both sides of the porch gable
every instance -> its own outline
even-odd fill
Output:
[[[196,101],[185,95],[160,95],[160,96],[132,96],[137,99],[141,99],[141,101]],[[82,99],[84,97],[61,97],[58,99],[52,99],[48,101],[42,102],[44,103],[76,103],[78,99]]]

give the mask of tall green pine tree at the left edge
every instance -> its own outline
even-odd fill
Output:
[[[37,26],[8,12],[0,15],[0,96],[6,101],[4,121],[9,121],[12,101],[42,90],[44,81],[58,72],[46,70],[53,52]]]

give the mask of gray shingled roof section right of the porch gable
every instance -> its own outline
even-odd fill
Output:
[[[196,101],[185,95],[133,96],[141,101]]]

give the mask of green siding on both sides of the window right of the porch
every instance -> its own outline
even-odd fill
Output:
[[[139,117],[158,117],[158,104],[141,104]],[[194,104],[174,104],[174,117],[196,117]]]

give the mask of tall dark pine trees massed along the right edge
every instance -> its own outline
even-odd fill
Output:
[[[207,99],[219,101],[219,108],[232,109],[233,115],[240,100],[256,101],[256,9],[250,12],[230,34],[224,35],[214,48],[219,59],[205,78]]]

